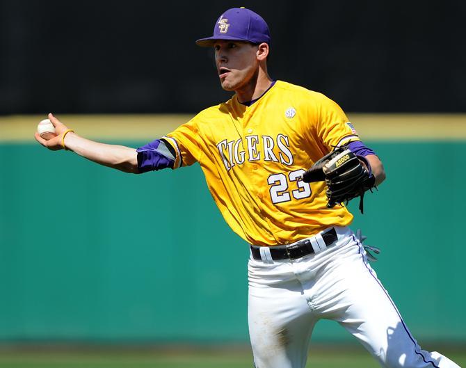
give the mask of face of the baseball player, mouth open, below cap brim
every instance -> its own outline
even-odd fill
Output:
[[[257,75],[259,62],[256,45],[218,40],[214,49],[218,77],[224,90],[241,90]]]

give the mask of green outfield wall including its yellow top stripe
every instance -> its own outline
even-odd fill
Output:
[[[66,117],[134,147],[185,118]],[[38,120],[0,119],[0,340],[246,342],[248,245],[199,166],[102,168],[36,144]],[[351,120],[387,171],[364,216],[350,205],[373,267],[421,342],[466,343],[465,116]],[[313,339],[353,338],[322,321]]]

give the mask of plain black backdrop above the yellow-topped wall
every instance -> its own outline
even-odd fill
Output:
[[[0,113],[195,112],[227,99],[211,34],[236,2],[0,2]],[[346,111],[466,111],[463,1],[248,2],[271,75]],[[463,31],[462,31],[463,30]]]

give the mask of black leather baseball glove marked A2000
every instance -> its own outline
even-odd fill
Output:
[[[364,165],[362,164],[364,162]],[[372,191],[376,178],[372,175],[370,165],[364,157],[357,157],[348,145],[336,147],[314,163],[303,174],[303,182],[322,182],[327,184],[327,207],[337,203],[348,202],[360,197],[359,209],[364,213],[364,193]]]

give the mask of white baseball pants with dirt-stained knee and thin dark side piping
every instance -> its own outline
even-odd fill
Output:
[[[300,259],[250,259],[249,333],[257,368],[304,368],[314,325],[337,321],[382,367],[459,368],[423,351],[348,227],[338,240]]]

